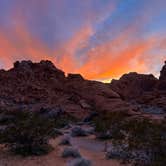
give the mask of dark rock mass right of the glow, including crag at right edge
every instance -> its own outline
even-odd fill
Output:
[[[163,108],[166,111],[166,63],[159,79],[152,74],[129,73],[112,80],[111,89],[127,101]]]

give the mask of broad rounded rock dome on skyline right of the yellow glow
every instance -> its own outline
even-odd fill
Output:
[[[157,78],[152,74],[146,75],[133,72],[124,74],[119,80],[112,80],[110,87],[124,99],[133,99],[144,92],[153,91],[157,81]]]

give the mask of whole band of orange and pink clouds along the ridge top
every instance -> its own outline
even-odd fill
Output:
[[[93,34],[90,26],[78,31],[63,47],[50,50],[44,43],[33,38],[24,26],[17,26],[14,33],[0,32],[0,62],[3,67],[10,68],[16,60],[41,59],[51,60],[65,72],[81,73],[88,79],[116,78],[129,71],[147,71],[145,53],[159,46],[163,49],[165,39],[151,36],[146,39],[130,39],[132,29],[120,34],[113,41],[103,43],[87,52],[87,59],[78,67],[76,52],[84,48]],[[57,58],[60,55],[59,58]]]

